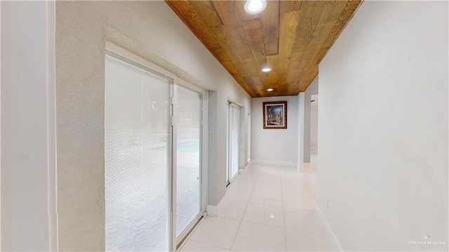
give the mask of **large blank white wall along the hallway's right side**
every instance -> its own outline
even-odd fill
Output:
[[[448,2],[365,1],[319,68],[318,202],[342,249],[447,251]]]

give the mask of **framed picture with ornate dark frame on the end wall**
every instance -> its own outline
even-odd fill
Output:
[[[264,102],[264,128],[287,128],[287,102]]]

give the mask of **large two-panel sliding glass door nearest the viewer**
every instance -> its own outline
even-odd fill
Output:
[[[175,251],[206,210],[206,93],[145,63],[105,57],[107,251]]]

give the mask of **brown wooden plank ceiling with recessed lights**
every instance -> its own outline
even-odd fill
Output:
[[[258,14],[245,1],[166,3],[249,95],[266,97],[306,90],[361,1],[267,1]]]

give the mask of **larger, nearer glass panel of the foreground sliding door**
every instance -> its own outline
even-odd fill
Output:
[[[106,56],[107,251],[170,249],[171,82]]]

